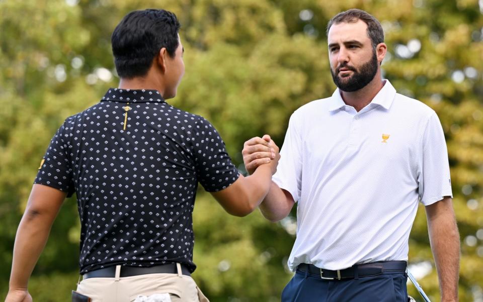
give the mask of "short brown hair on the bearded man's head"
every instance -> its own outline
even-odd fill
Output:
[[[356,23],[362,20],[367,24],[367,35],[371,39],[372,48],[376,49],[377,44],[384,42],[384,31],[382,26],[372,15],[358,9],[348,10],[337,14],[327,24],[327,35],[329,35],[329,29],[334,24],[339,23]]]

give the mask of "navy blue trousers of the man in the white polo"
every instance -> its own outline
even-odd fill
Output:
[[[358,279],[325,280],[297,270],[282,302],[407,302],[406,273],[386,272]]]

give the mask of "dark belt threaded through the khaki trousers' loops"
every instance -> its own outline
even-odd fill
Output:
[[[191,276],[190,271],[183,264],[181,265],[183,275]],[[120,277],[138,276],[144,274],[177,274],[176,264],[163,264],[151,267],[121,266]],[[83,279],[88,278],[114,278],[116,276],[116,266],[96,269],[85,273]]]

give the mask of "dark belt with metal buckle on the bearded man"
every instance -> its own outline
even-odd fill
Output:
[[[297,270],[320,276],[321,279],[340,280],[345,278],[377,276],[391,271],[406,272],[406,266],[406,261],[381,261],[356,264],[340,270],[330,270],[318,268],[313,264],[302,263],[298,265]]]

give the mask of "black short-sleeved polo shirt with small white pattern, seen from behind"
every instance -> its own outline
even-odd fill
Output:
[[[194,271],[198,181],[218,191],[238,175],[207,120],[167,104],[156,90],[111,88],[65,120],[35,183],[76,193],[82,274],[174,262]]]

